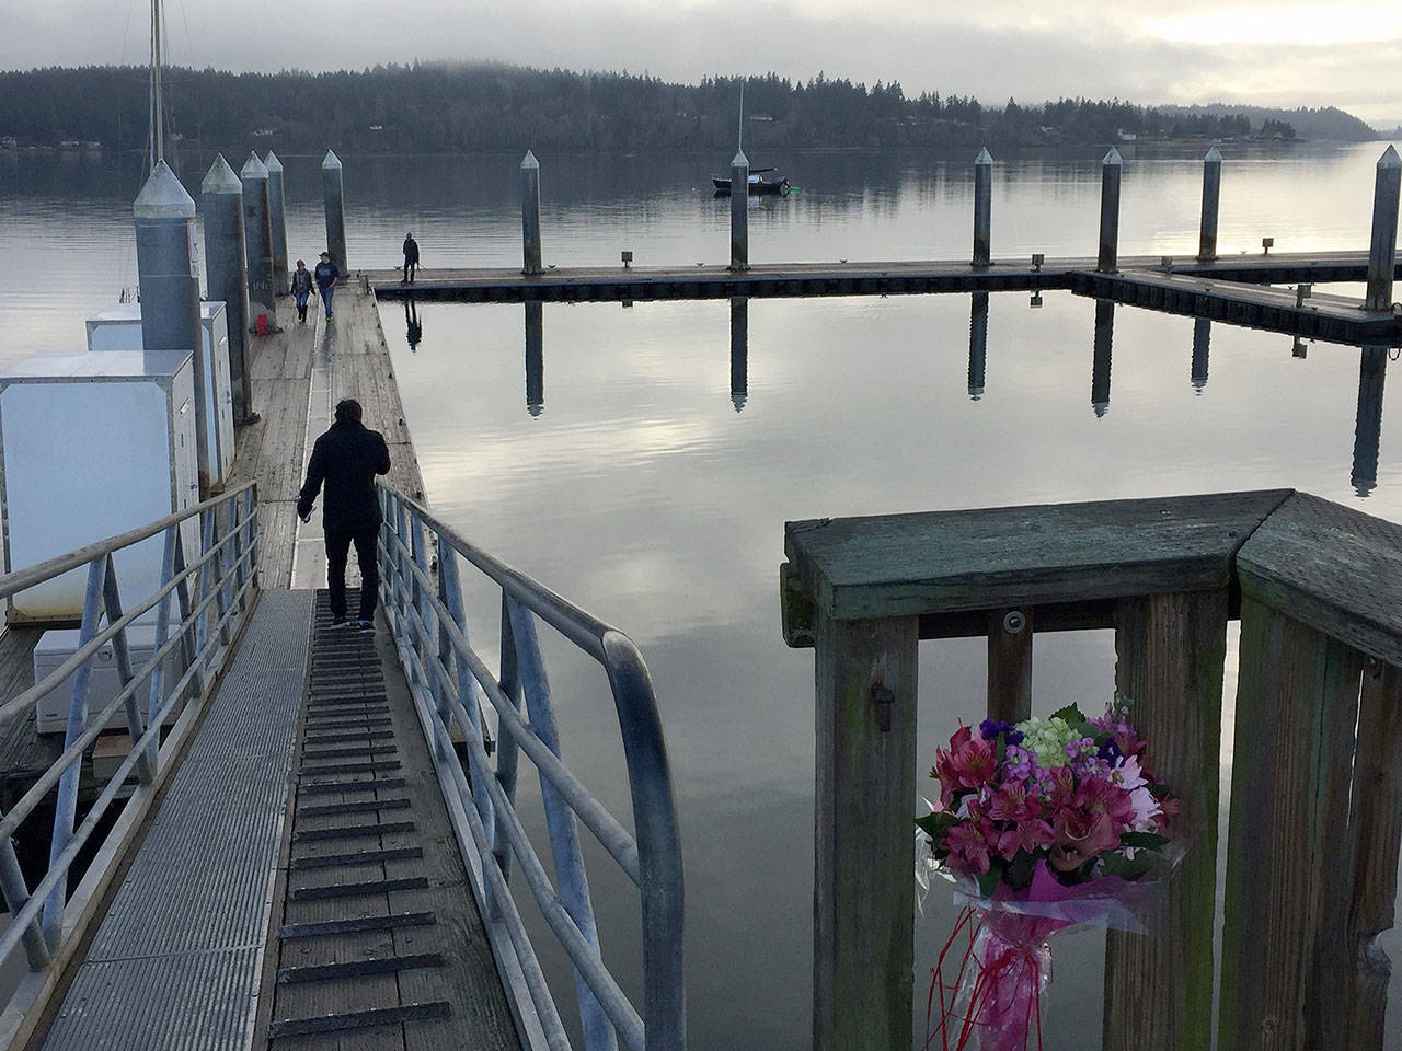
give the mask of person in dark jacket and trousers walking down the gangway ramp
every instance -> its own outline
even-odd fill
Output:
[[[360,422],[360,402],[345,398],[336,404],[336,420],[317,439],[307,464],[307,481],[297,499],[297,517],[311,516],[311,502],[325,483],[321,527],[327,538],[327,587],[331,590],[331,622],[346,622],[346,558],[355,544],[360,563],[360,629],[374,631],[376,593],[380,573],[374,541],[384,516],[374,492],[374,476],[388,474],[390,447],[379,430]]]

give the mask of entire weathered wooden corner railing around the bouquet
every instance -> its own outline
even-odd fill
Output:
[[[1108,936],[1103,1043],[1210,1047],[1232,617],[1218,1045],[1382,1047],[1402,527],[1272,490],[798,521],[785,549],[785,639],[816,647],[816,1047],[911,1045],[918,642],[987,636],[988,712],[1021,719],[1033,631],[1085,628],[1115,629],[1116,687],[1193,834],[1150,936]]]

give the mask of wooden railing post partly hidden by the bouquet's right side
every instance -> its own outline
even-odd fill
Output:
[[[1154,772],[1182,799],[1193,838],[1147,935],[1105,944],[1103,1045],[1187,1051],[1211,1045],[1213,909],[1227,591],[1178,591],[1116,605],[1115,685],[1134,701]]]

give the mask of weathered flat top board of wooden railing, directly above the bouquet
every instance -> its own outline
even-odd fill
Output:
[[[1211,590],[1287,489],[820,518],[785,552],[837,619]]]

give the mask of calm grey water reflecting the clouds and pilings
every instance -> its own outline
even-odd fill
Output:
[[[1265,235],[1277,251],[1366,248],[1382,149],[1228,151],[1223,251]],[[1000,163],[994,255],[1091,255],[1098,153]],[[547,262],[614,265],[624,248],[638,265],[723,262],[728,203],[705,186],[726,157],[543,156]],[[292,251],[307,259],[322,237],[318,160],[283,158]],[[426,266],[519,263],[519,157],[345,161],[352,265],[393,265],[405,230]],[[805,188],[754,205],[754,262],[969,252],[966,157],[753,161]],[[196,195],[205,167],[184,172]],[[1200,171],[1195,156],[1127,158],[1122,254],[1196,251]],[[130,161],[0,161],[0,362],[80,348],[83,318],[136,283],[136,186]],[[967,296],[756,300],[742,392],[730,304],[547,305],[544,376],[527,392],[520,305],[428,304],[412,349],[402,307],[381,317],[437,513],[646,654],[681,817],[698,1048],[810,1043],[813,661],[780,638],[785,520],[1269,486],[1402,520],[1396,384],[1375,488],[1352,481],[1354,348],[1297,357],[1288,338],[1218,324],[1195,384],[1193,321],[1119,308],[1106,402],[1103,370],[1092,395],[1095,304],[1004,294],[973,398]],[[495,598],[474,594],[492,652]],[[627,814],[603,677],[547,647],[566,758]],[[1039,710],[1096,706],[1112,675],[1108,632],[1037,640]],[[976,716],[983,684],[981,642],[923,646],[923,757]],[[606,954],[629,971],[635,895],[597,866],[593,879]],[[932,898],[917,925],[921,994],[949,919]],[[1102,952],[1094,930],[1056,944],[1049,1051],[1098,1045]]]

